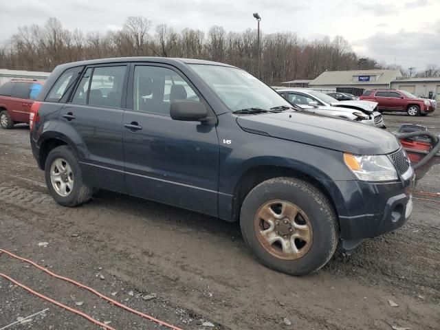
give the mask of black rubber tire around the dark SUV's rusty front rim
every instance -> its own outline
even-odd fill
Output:
[[[307,252],[293,260],[274,256],[273,250],[270,252],[265,248],[257,234],[257,230],[261,230],[258,229],[257,223],[260,220],[257,213],[265,203],[276,200],[297,206],[305,214],[312,228],[313,235]],[[295,219],[292,220],[294,221]],[[336,212],[327,197],[311,184],[291,177],[269,179],[252,189],[243,201],[240,225],[245,242],[263,265],[295,276],[319,270],[331,259],[338,246]],[[276,234],[278,233],[277,231]]]

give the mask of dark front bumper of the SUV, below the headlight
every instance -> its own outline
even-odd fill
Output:
[[[339,212],[342,240],[362,241],[380,236],[400,228],[410,218],[415,187],[412,168],[399,181],[335,181],[335,185],[338,192],[333,190],[331,195],[335,197],[336,208],[343,203],[344,209]]]

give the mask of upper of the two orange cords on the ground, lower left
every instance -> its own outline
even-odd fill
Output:
[[[120,307],[120,308],[122,308],[122,309],[125,309],[126,311],[131,311],[131,313],[136,314],[136,315],[138,315],[138,316],[141,316],[142,318],[146,318],[147,320],[151,320],[151,321],[153,321],[153,322],[158,323],[159,325],[163,325],[164,327],[168,327],[168,328],[173,329],[173,330],[182,330],[182,329],[180,329],[180,328],[178,328],[178,327],[175,327],[174,325],[169,325],[169,324],[166,323],[166,322],[163,322],[163,321],[161,321],[161,320],[157,320],[157,318],[153,318],[153,316],[149,316],[148,314],[144,314],[144,313],[142,313],[141,311],[137,311],[137,310],[135,310],[135,309],[132,309],[132,308],[130,308],[130,307],[124,305],[124,304],[119,303],[119,302],[116,301],[116,300],[113,300],[113,299],[111,299],[111,298],[109,298],[109,297],[107,297],[107,296],[104,296],[103,294],[100,294],[99,292],[97,292],[95,289],[92,289],[91,287],[87,287],[86,285],[83,285],[83,284],[81,284],[81,283],[78,283],[78,282],[76,282],[76,281],[74,281],[74,280],[72,280],[72,279],[70,279],[70,278],[67,278],[67,277],[63,277],[63,276],[57,275],[57,274],[51,272],[50,270],[47,270],[45,267],[41,267],[40,265],[34,263],[34,261],[30,261],[30,260],[28,260],[28,259],[21,258],[20,256],[17,256],[17,255],[15,255],[15,254],[13,254],[13,253],[11,253],[11,252],[8,252],[8,251],[6,251],[6,250],[3,250],[3,249],[0,249],[0,252],[3,252],[3,253],[5,253],[5,254],[8,254],[8,255],[11,256],[12,258],[15,258],[15,259],[19,259],[19,260],[21,260],[21,261],[24,261],[25,263],[30,263],[30,265],[33,265],[34,267],[38,268],[39,270],[43,270],[43,272],[46,272],[47,274],[50,274],[50,276],[54,276],[55,278],[58,278],[58,279],[60,279],[60,280],[63,280],[63,281],[66,281],[66,282],[72,283],[72,284],[74,284],[74,285],[76,285],[76,286],[78,286],[78,287],[82,287],[83,289],[88,290],[88,291],[91,292],[92,294],[96,294],[96,296],[99,296],[100,298],[102,298],[102,299],[104,299],[104,300],[107,300],[109,303],[112,303],[113,305],[116,305],[116,306],[118,306],[118,307]]]

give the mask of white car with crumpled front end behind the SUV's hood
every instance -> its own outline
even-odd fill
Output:
[[[283,98],[305,111],[353,120],[381,129],[386,128],[382,115],[377,111],[377,102],[364,100],[338,101],[336,98],[313,89],[286,88],[277,89],[276,91]]]

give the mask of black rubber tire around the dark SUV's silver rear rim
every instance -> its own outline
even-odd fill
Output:
[[[57,159],[64,159],[69,165],[69,168],[72,169],[73,187],[67,196],[60,195],[54,187],[55,184],[52,184],[51,168]],[[89,201],[94,195],[94,188],[84,184],[78,160],[75,157],[74,151],[72,151],[72,148],[69,146],[57,146],[47,155],[45,162],[45,179],[50,195],[62,206],[78,206]]]

